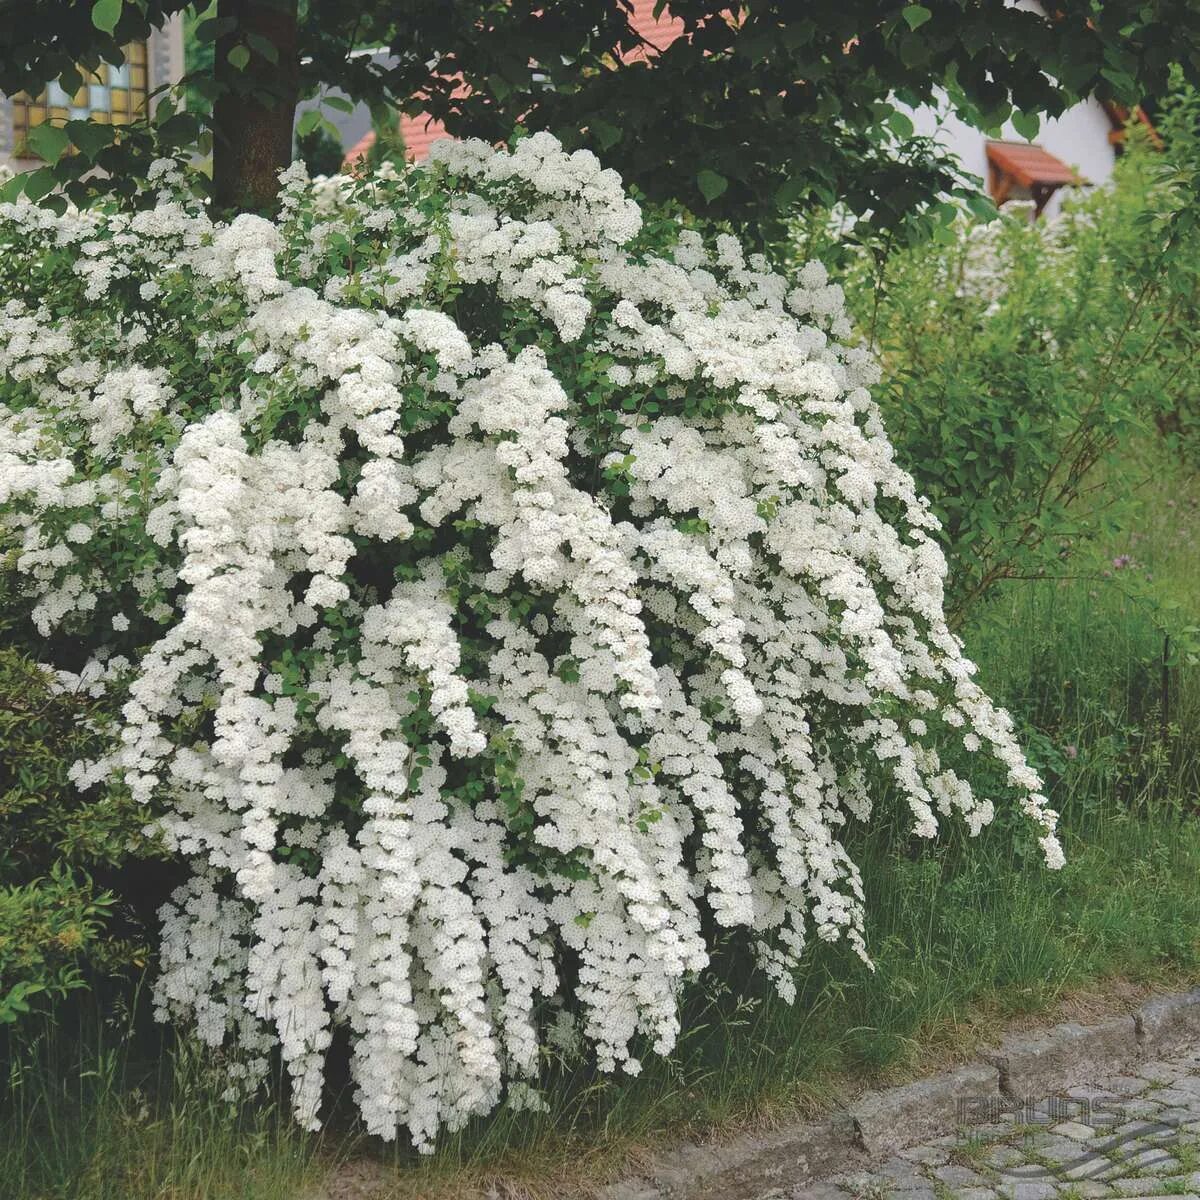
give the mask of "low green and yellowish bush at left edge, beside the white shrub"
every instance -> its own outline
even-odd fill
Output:
[[[145,814],[70,778],[98,752],[104,718],[85,691],[0,644],[0,1025],[82,986],[89,966],[144,961],[136,923],[96,877],[152,851]]]

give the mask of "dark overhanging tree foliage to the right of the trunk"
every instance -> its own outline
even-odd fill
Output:
[[[965,197],[956,163],[913,138],[898,106],[944,92],[980,128],[1015,114],[1027,132],[1084,96],[1163,95],[1170,62],[1200,66],[1200,10],[1175,4],[1103,0],[1052,16],[1003,0],[665,8],[684,36],[655,53],[629,0],[367,6],[364,36],[392,60],[364,64],[356,86],[458,136],[548,130],[654,200],[769,239],[781,214],[834,203],[881,229],[923,217],[928,232],[938,196]],[[314,70],[336,71],[322,54]]]

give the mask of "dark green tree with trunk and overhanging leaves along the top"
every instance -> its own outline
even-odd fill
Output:
[[[186,7],[0,0],[0,89],[36,92],[77,64],[118,61],[122,44]],[[128,187],[139,155],[211,136],[218,204],[270,208],[298,98],[334,84],[457,136],[547,130],[650,199],[746,227],[834,200],[895,226],[964,184],[913,134],[906,107],[944,96],[982,128],[1012,118],[1034,136],[1040,118],[1081,97],[1160,94],[1172,64],[1200,79],[1189,0],[673,0],[670,16],[682,36],[655,48],[631,0],[217,0],[197,26],[212,65],[188,77],[211,110],[168,104],[152,131],[125,133],[71,122],[66,138],[43,136],[55,167],[30,191],[62,184],[84,198],[100,186],[86,178],[92,163]],[[389,53],[353,53],[367,46]],[[80,154],[66,155],[68,143]]]

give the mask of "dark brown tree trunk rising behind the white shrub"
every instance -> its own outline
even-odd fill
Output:
[[[216,42],[212,106],[212,202],[220,211],[275,208],[278,173],[292,162],[292,125],[300,88],[298,0],[217,0],[217,19],[233,20]],[[266,43],[275,47],[276,61]],[[250,60],[241,68],[244,52]],[[234,62],[229,61],[230,52]]]

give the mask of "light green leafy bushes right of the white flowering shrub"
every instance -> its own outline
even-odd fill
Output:
[[[883,358],[880,403],[943,522],[960,616],[1003,580],[1096,571],[1086,546],[1136,517],[1132,444],[1156,425],[1172,445],[1193,434],[1195,104],[1169,106],[1165,152],[1132,128],[1115,186],[1058,218],[964,216],[851,270],[851,307]]]

